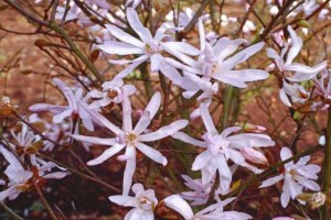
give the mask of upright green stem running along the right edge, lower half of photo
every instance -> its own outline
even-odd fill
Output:
[[[330,174],[331,174],[331,107],[329,107],[328,113],[328,125],[327,125],[327,147],[324,153],[324,164],[323,164],[323,193],[328,195],[330,193]],[[329,219],[329,209],[324,205],[322,209],[322,219]]]

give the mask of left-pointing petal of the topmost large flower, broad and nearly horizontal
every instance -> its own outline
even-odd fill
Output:
[[[107,54],[129,55],[129,54],[145,54],[145,51],[140,47],[131,44],[121,43],[117,41],[106,41],[104,44],[97,45],[97,47]]]

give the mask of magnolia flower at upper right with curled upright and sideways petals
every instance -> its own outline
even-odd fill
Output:
[[[291,44],[284,43],[284,48],[280,52],[280,55],[273,48],[267,48],[268,57],[273,58],[279,72],[287,74],[288,72],[295,72],[291,76],[286,76],[286,78],[290,81],[305,81],[312,79],[317,76],[321,70],[323,70],[328,63],[322,62],[314,67],[309,67],[303,64],[293,63],[296,56],[298,56],[301,47],[302,40],[297,33],[292,30],[291,26],[287,28],[290,36]],[[285,59],[285,55],[286,59]]]

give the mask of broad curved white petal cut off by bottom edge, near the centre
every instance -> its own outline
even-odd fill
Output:
[[[182,217],[184,217],[185,220],[190,220],[193,218],[193,211],[189,204],[179,195],[172,195],[163,199],[167,207],[170,209],[175,210],[179,212]]]

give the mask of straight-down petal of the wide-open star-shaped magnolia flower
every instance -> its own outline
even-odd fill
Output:
[[[136,170],[136,156],[137,152],[135,147],[127,146],[126,150],[126,156],[128,156],[126,168],[124,172],[124,178],[122,178],[122,195],[128,196],[130,193],[130,188],[132,185],[132,177]]]

